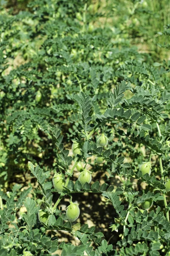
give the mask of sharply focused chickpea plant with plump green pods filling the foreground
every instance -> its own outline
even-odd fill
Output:
[[[127,90],[133,91],[130,99],[123,98]],[[6,201],[6,208],[0,210],[2,248],[0,252],[10,256],[25,256],[31,253],[32,255],[47,255],[43,253],[48,251],[48,255],[51,255],[50,253],[57,249],[62,249],[64,255],[68,256],[74,250],[77,256],[84,255],[84,252],[89,256],[124,256],[131,253],[155,256],[159,255],[159,250],[161,250],[164,255],[169,255],[170,205],[167,203],[167,195],[170,191],[170,180],[167,176],[169,166],[163,168],[163,160],[169,150],[165,142],[170,137],[170,128],[167,125],[164,129],[163,121],[167,118],[164,113],[164,102],[168,97],[169,94],[164,93],[157,100],[140,88],[133,89],[130,82],[121,81],[111,93],[105,113],[94,115],[93,100],[80,92],[77,100],[81,106],[79,111],[82,129],[77,131],[77,140],[73,142],[73,157],[71,151],[64,147],[62,131],[57,125],[51,124],[49,127],[57,141],[55,144],[61,158],[52,181],[46,181],[47,175],[38,165],[34,166],[33,163],[28,162],[28,169],[36,177],[43,196],[41,209],[37,208],[34,199],[27,197],[31,188],[22,192],[17,204],[14,201],[17,186],[8,196],[0,192],[3,200]],[[152,122],[145,123],[146,116]],[[120,122],[124,123],[124,129],[119,128]],[[116,128],[114,133],[110,132],[110,126]],[[152,131],[158,134],[154,139],[149,136]],[[147,148],[147,156],[144,160],[147,162],[137,164],[135,169],[133,163],[126,161],[125,151],[121,151],[120,148],[116,151],[114,147],[111,147],[115,137],[125,138],[129,147],[131,141],[144,145]],[[121,147],[123,147],[122,144]],[[87,164],[91,163],[92,157],[94,157],[94,165],[88,169]],[[159,161],[158,172],[161,179],[157,179],[153,173],[154,159]],[[93,180],[93,166],[96,163],[106,164],[110,168],[102,185],[98,180]],[[78,166],[81,167],[79,169],[81,172],[74,182],[72,177]],[[110,182],[111,178],[115,177],[115,171],[122,177],[122,184],[117,187]],[[132,179],[139,182],[139,186],[141,182],[144,182],[148,189],[137,190],[133,186],[129,189],[127,183]],[[55,202],[53,192],[58,193],[58,199]],[[72,201],[72,195],[84,192],[101,195],[116,211],[116,218],[113,218],[110,228],[113,235],[115,232],[120,232],[121,240],[116,245],[118,250],[113,249],[113,245],[105,240],[101,232],[95,232],[95,227],[79,223],[82,209],[79,207],[79,202]],[[60,201],[64,198],[69,198],[70,201],[65,212],[59,207]],[[22,205],[22,200],[25,200],[27,213],[23,213],[16,225],[14,224],[15,215]],[[124,207],[123,201],[127,202],[127,207]],[[9,228],[6,225],[8,220],[12,221],[16,231],[14,227]],[[41,224],[40,229],[36,228],[38,220]],[[67,230],[79,239],[81,245],[74,246],[65,242],[59,244],[57,236],[52,240],[45,235],[45,230],[51,230],[54,234],[60,230]],[[11,240],[6,237],[5,232]],[[34,242],[33,237],[39,242]],[[95,247],[91,246],[91,241]],[[17,246],[15,251],[12,249],[13,244]]]

